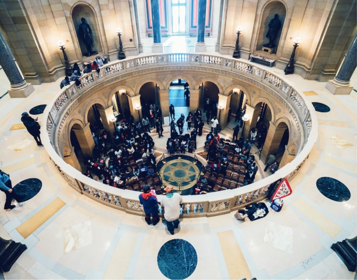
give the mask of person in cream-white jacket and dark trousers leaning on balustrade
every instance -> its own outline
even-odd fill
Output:
[[[182,196],[173,192],[172,186],[168,185],[164,189],[166,196],[161,199],[161,208],[164,208],[164,217],[167,230],[174,234],[173,230],[179,227],[180,204],[183,203]]]

